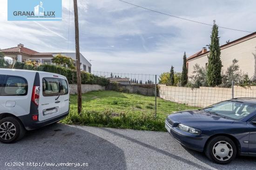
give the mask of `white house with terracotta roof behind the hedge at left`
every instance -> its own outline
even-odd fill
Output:
[[[62,56],[70,57],[73,60],[76,59],[75,53],[65,53],[65,52],[49,52],[49,53],[40,53],[31,49],[24,47],[23,44],[18,44],[17,47],[8,48],[0,50],[5,54],[6,57],[11,57],[13,61],[18,62],[26,62],[26,61],[34,61],[38,64],[51,64],[52,59],[61,54]],[[88,60],[80,53],[80,69],[86,72],[91,72],[92,64],[88,62]]]

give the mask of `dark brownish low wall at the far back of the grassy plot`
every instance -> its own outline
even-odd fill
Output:
[[[155,85],[154,84],[119,84],[118,87],[115,87],[110,83],[107,87],[108,90],[119,90],[129,93],[137,93],[148,96],[155,96]],[[128,91],[127,91],[128,90]]]

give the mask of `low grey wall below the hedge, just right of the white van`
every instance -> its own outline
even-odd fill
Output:
[[[97,84],[82,84],[82,93],[87,93],[90,91],[95,90],[105,90],[105,86],[100,86]],[[76,84],[69,84],[69,93],[70,94],[77,94],[77,85]]]

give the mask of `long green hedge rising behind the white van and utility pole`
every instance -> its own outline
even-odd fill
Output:
[[[50,73],[56,73],[67,77],[69,84],[76,84],[76,71],[73,69],[68,69],[61,66],[43,64],[40,66],[32,66],[24,63],[16,62],[13,66],[14,69],[28,69],[28,70],[37,70],[45,71]],[[108,86],[109,80],[105,77],[95,76],[85,71],[81,71],[81,83],[82,84],[98,84],[101,86]]]

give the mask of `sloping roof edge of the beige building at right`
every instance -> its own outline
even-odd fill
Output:
[[[248,40],[248,39],[250,39],[250,38],[255,38],[255,37],[256,37],[256,32],[253,32],[253,33],[251,33],[251,34],[249,34],[249,35],[246,35],[246,36],[244,36],[244,37],[242,37],[242,38],[238,38],[238,39],[236,39],[236,40],[234,40],[234,41],[231,41],[231,42],[229,42],[229,43],[227,43],[227,44],[224,44],[224,45],[220,46],[220,48],[221,48],[221,49],[224,49],[224,48],[227,48],[227,47],[229,47],[229,46],[231,46],[231,45],[238,44],[238,43],[240,43],[240,42],[243,42],[243,41],[246,41],[246,40]],[[209,51],[204,52],[203,54],[205,55],[205,54],[207,54],[207,53],[209,53]],[[199,51],[199,52],[197,52],[197,53],[195,53],[194,55],[188,57],[188,58],[187,58],[187,61],[190,60],[190,59],[192,59],[192,58],[201,56],[201,55],[202,55],[202,50]]]

